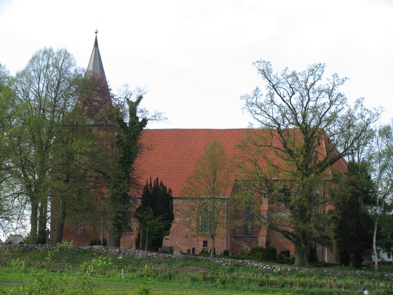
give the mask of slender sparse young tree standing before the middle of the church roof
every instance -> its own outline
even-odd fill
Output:
[[[199,204],[197,232],[210,237],[211,258],[214,256],[217,230],[224,227],[224,196],[227,196],[232,188],[231,162],[220,141],[209,142],[183,188],[185,197],[198,197],[195,200]]]

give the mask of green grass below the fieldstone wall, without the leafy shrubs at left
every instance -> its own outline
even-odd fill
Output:
[[[5,283],[20,283],[20,273],[10,266],[12,259],[24,261],[22,270],[24,281],[33,282],[35,272],[41,268],[41,262],[48,256],[46,251],[20,248],[17,251],[1,252],[0,256],[0,294],[7,294],[20,286]],[[73,278],[84,262],[97,259],[99,254],[91,251],[58,251],[47,264],[45,276],[59,284],[64,276]],[[392,281],[376,279],[374,276],[358,275],[353,268],[322,267],[323,271],[283,273],[266,272],[253,267],[239,265],[221,266],[196,261],[193,257],[184,259],[152,259],[112,257],[112,263],[106,270],[94,275],[98,286],[94,294],[137,294],[142,284],[143,268],[150,270],[148,285],[151,294],[361,294],[361,290],[373,290],[370,294],[392,294]],[[123,269],[123,276],[121,270]],[[350,271],[347,275],[343,270]],[[367,269],[368,270],[368,269]],[[384,269],[385,270],[385,269]],[[392,270],[389,268],[389,270]],[[336,272],[335,272],[336,271]],[[340,272],[338,272],[340,271]],[[371,271],[371,269],[370,269]],[[341,290],[345,289],[345,290]]]

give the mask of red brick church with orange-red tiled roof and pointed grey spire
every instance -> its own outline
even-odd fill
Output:
[[[105,79],[105,72],[102,65],[101,56],[98,50],[97,36],[93,51],[87,67],[87,74],[95,75]],[[142,147],[134,168],[134,178],[138,180],[140,186],[133,190],[132,197],[136,202],[130,206],[129,223],[131,231],[124,233],[121,238],[121,246],[134,247],[136,243],[138,223],[133,218],[133,211],[138,206],[142,187],[147,180],[158,177],[160,181],[172,190],[174,221],[170,234],[164,238],[164,246],[170,246],[173,250],[182,252],[195,251],[199,253],[202,249],[210,249],[210,238],[206,236],[201,224],[200,204],[195,198],[184,198],[182,190],[186,184],[187,177],[194,171],[197,158],[201,156],[206,145],[218,140],[222,143],[228,155],[240,156],[240,151],[236,145],[250,133],[264,132],[261,129],[145,129],[140,137]],[[277,159],[279,161],[279,159]],[[344,160],[336,162],[332,170],[346,171]],[[239,174],[233,173],[231,180],[238,179]],[[234,186],[235,187],[235,186]],[[225,196],[221,197],[225,210],[222,212],[222,226],[218,228],[215,248],[216,253],[221,254],[224,250],[229,253],[237,253],[241,248],[250,250],[257,245],[274,245],[277,252],[289,251],[294,255],[294,246],[280,233],[264,226],[247,227],[244,225],[235,226],[231,223],[229,210],[232,188]],[[201,198],[203,198],[201,196]],[[99,199],[97,202],[100,202]],[[260,196],[258,200],[262,214],[269,214],[272,210],[268,199]],[[259,205],[258,205],[259,206]],[[99,208],[99,206],[98,206]],[[77,245],[89,245],[92,240],[108,238],[108,231],[104,226],[103,212],[97,211],[96,225],[78,223],[66,223],[63,231],[63,239],[73,240]],[[243,214],[243,215],[242,215]],[[246,218],[243,212],[240,218]],[[239,216],[237,216],[239,218]],[[55,227],[51,222],[51,237],[55,236]],[[240,223],[239,223],[240,224]],[[53,239],[52,239],[53,242]],[[321,261],[335,262],[335,253],[325,247],[317,249],[317,255]]]

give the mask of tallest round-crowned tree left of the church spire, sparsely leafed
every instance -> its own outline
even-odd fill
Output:
[[[38,50],[16,74],[15,119],[7,134],[9,175],[30,211],[30,243],[45,242],[58,131],[83,77],[65,49]]]

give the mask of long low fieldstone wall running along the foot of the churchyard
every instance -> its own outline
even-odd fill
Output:
[[[0,245],[0,252],[1,251],[15,251],[20,248],[26,249],[35,249],[37,251],[49,251],[49,250],[56,250],[56,246],[54,245],[30,245],[30,244],[2,244]],[[140,249],[135,248],[128,248],[128,247],[105,247],[105,246],[72,246],[72,248],[64,248],[65,251],[94,251],[101,255],[110,255],[110,256],[117,256],[118,259],[122,259],[124,256],[131,256],[131,257],[150,257],[155,259],[183,259],[185,257],[190,257],[189,255],[176,255],[168,254],[168,253],[159,253],[159,252],[148,252],[143,251]],[[333,273],[339,275],[358,275],[358,276],[377,276],[379,278],[385,278],[393,280],[393,273],[370,273],[362,270],[354,271],[328,271],[328,270],[318,270],[317,268],[305,268],[305,267],[294,267],[294,266],[276,266],[272,264],[265,264],[265,263],[257,263],[249,260],[238,260],[238,259],[231,259],[229,257],[203,257],[203,256],[192,256],[194,259],[204,262],[204,263],[218,263],[222,266],[232,266],[232,265],[239,265],[239,266],[246,266],[246,267],[257,267],[263,271],[281,271],[281,272],[309,272],[309,273],[317,273],[319,271],[323,271],[324,273]]]

